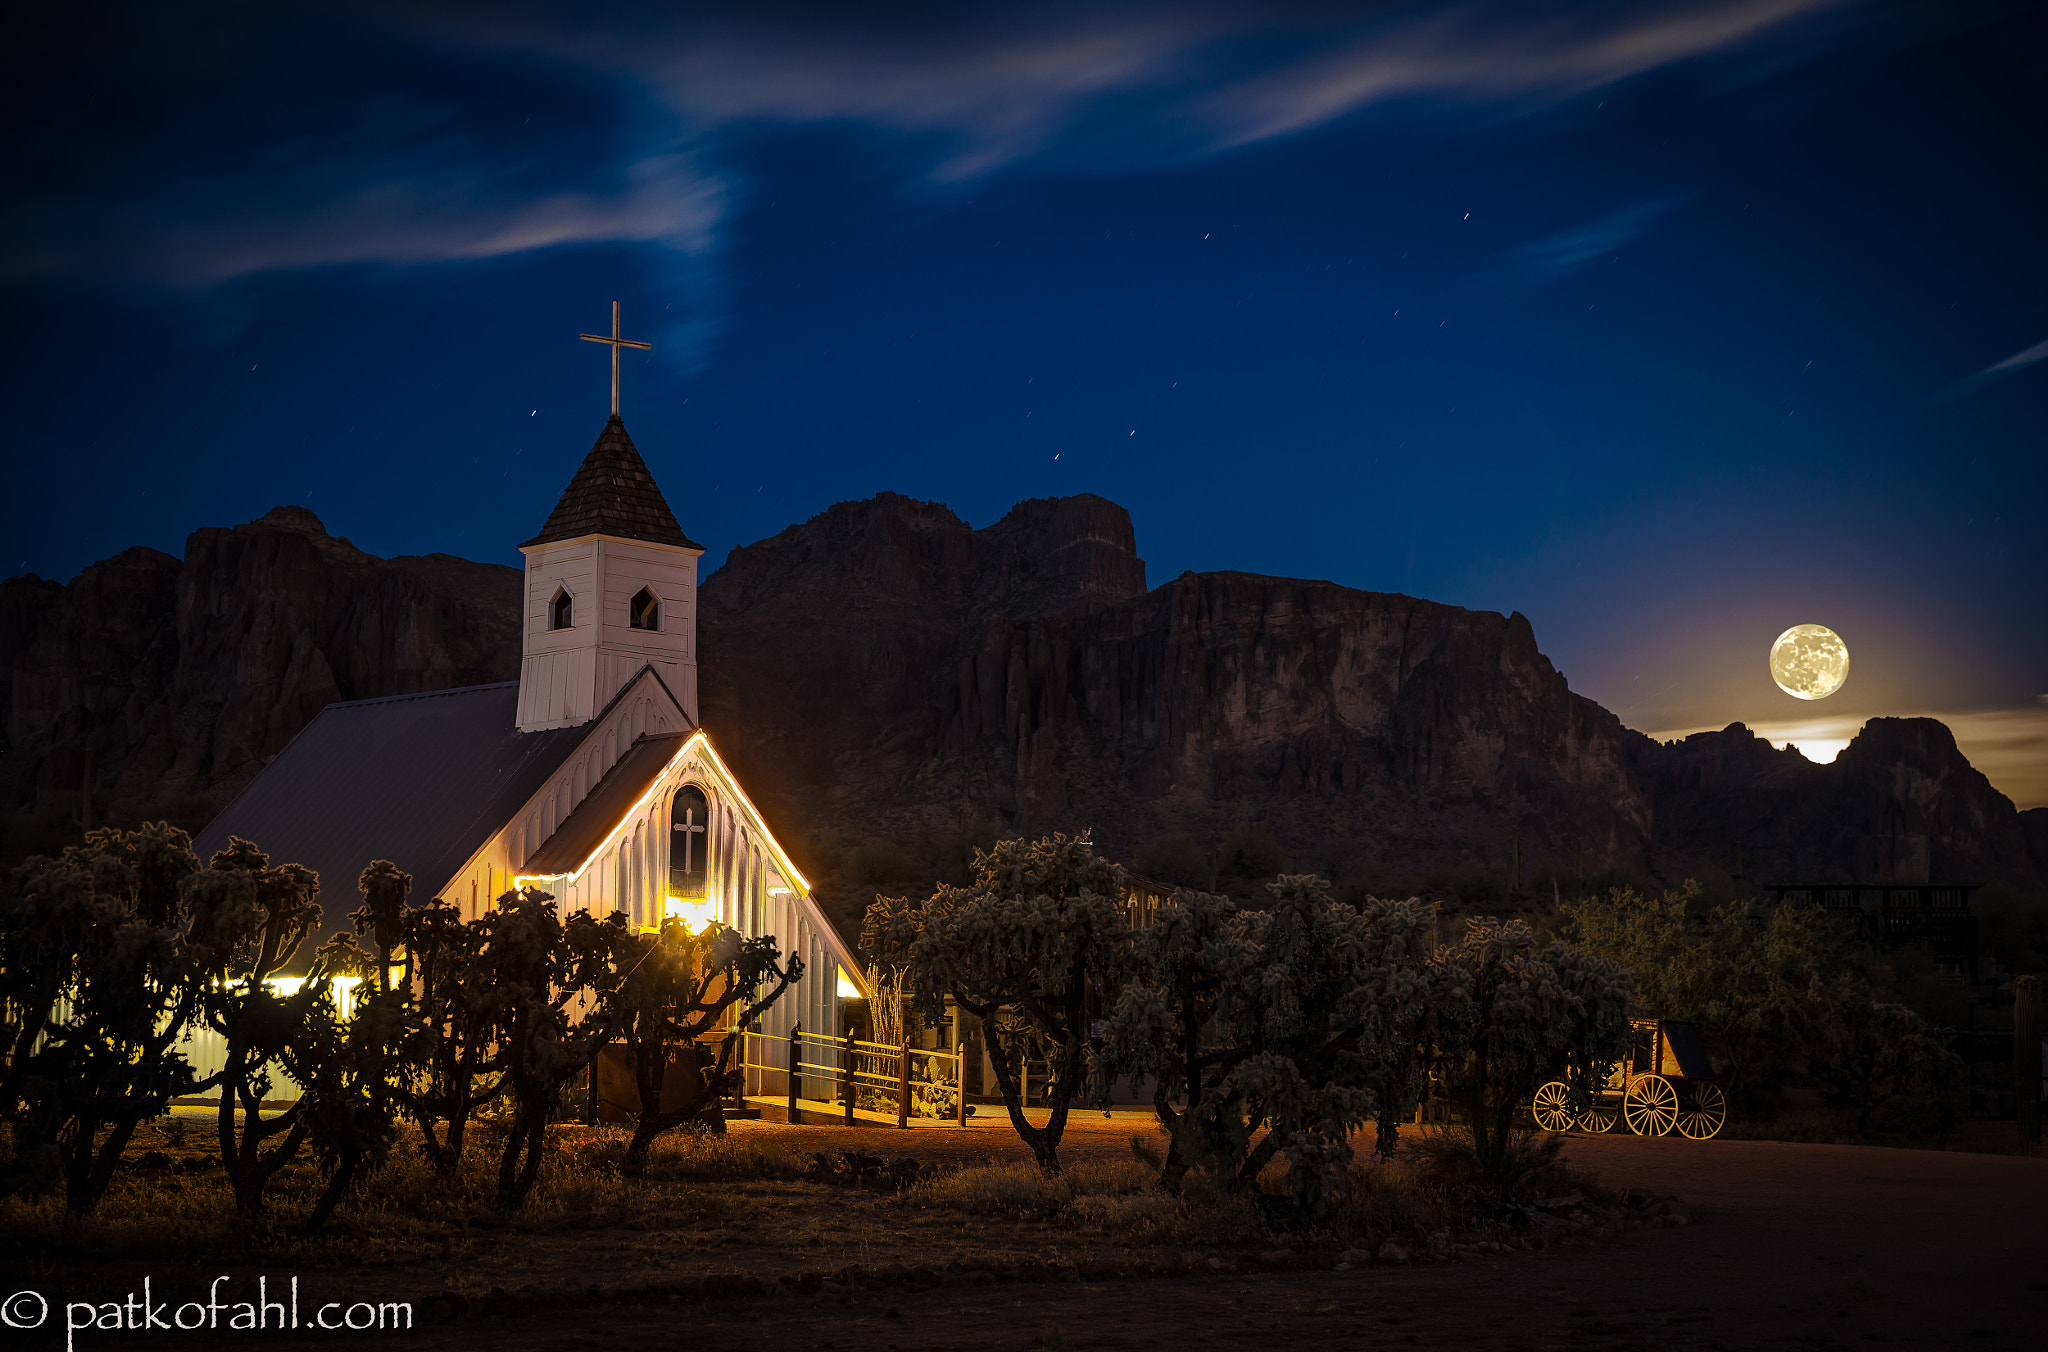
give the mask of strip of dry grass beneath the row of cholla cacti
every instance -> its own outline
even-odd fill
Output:
[[[1438,1133],[1411,1141],[1391,1161],[1362,1157],[1313,1225],[1288,1215],[1284,1166],[1272,1166],[1249,1190],[1196,1172],[1169,1192],[1143,1139],[1135,1139],[1135,1157],[1075,1159],[1061,1174],[1049,1176],[1030,1161],[983,1164],[938,1174],[895,1196],[862,1192],[856,1202],[838,1188],[795,1182],[807,1176],[809,1159],[793,1145],[748,1135],[672,1133],[655,1141],[645,1174],[629,1178],[621,1174],[629,1133],[616,1127],[557,1129],[526,1207],[506,1213],[496,1202],[492,1135],[485,1129],[471,1141],[453,1178],[440,1176],[416,1141],[401,1141],[317,1237],[295,1231],[322,1184],[309,1164],[279,1174],[270,1213],[250,1221],[233,1215],[233,1196],[217,1166],[195,1168],[207,1157],[197,1133],[188,1141],[150,1141],[147,1149],[168,1153],[174,1168],[125,1170],[92,1217],[68,1215],[61,1198],[0,1202],[0,1248],[37,1254],[43,1262],[178,1256],[195,1262],[289,1260],[309,1268],[461,1266],[494,1237],[592,1231],[639,1231],[647,1243],[659,1241],[678,1254],[766,1241],[760,1235],[768,1231],[784,1235],[774,1243],[811,1248],[854,1239],[887,1248],[911,1233],[920,1235],[915,1243],[954,1250],[965,1233],[1006,1248],[1059,1233],[1133,1248],[1278,1241],[1341,1250],[1473,1225],[1458,1151]],[[1567,1184],[1575,1178],[1552,1168],[1544,1180],[1552,1176]],[[1563,1192],[1567,1184],[1546,1182],[1536,1192]],[[918,1219],[920,1211],[930,1221]],[[948,1223],[934,1213],[965,1213],[991,1225],[956,1227],[952,1239],[942,1239]],[[981,1243],[975,1239],[977,1248]]]

